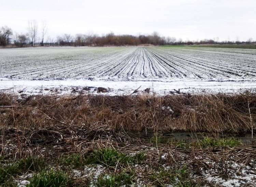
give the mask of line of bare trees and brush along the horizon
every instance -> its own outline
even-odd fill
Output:
[[[182,38],[160,36],[157,32],[150,35],[115,35],[113,32],[99,36],[94,32],[86,34],[63,34],[56,38],[46,37],[47,24],[42,22],[39,26],[37,21],[28,22],[27,33],[13,33],[12,29],[4,26],[0,28],[0,46],[139,46],[139,45],[194,45],[194,44],[251,44],[255,43],[252,38],[247,41],[219,41],[214,39],[203,39],[200,41],[183,41]]]

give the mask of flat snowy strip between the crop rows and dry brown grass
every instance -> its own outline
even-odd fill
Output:
[[[139,91],[150,88],[150,92],[158,95],[170,94],[173,89],[180,89],[181,92],[225,92],[234,93],[241,90],[256,90],[254,81],[90,81],[90,80],[52,80],[52,81],[30,81],[30,80],[8,80],[0,79],[0,90],[8,93],[26,95],[69,95],[79,94],[99,94],[98,87],[109,89],[105,95],[128,95],[138,87]],[[83,88],[89,87],[86,91]]]

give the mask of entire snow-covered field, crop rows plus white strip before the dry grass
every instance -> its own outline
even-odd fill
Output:
[[[42,92],[57,87],[59,94],[66,94],[74,86],[78,89],[101,86],[109,87],[111,94],[116,95],[130,93],[140,85],[141,89],[151,88],[159,94],[179,88],[184,92],[255,89],[256,50],[201,47],[0,49],[1,90],[37,94],[40,88]]]

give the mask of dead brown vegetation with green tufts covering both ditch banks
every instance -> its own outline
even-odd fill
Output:
[[[241,178],[239,184],[254,184],[255,145],[213,138],[195,139],[193,143],[166,141],[160,134],[251,133],[252,126],[255,129],[255,104],[256,95],[250,92],[163,97],[40,95],[27,99],[2,93],[2,181],[7,185],[32,172],[35,177],[28,179],[32,185],[56,170],[73,186],[221,186],[214,180],[230,180],[236,175]],[[139,137],[128,131],[151,131],[154,136]],[[32,158],[33,166],[35,160],[42,159],[46,166],[40,167],[45,169],[32,171],[31,162],[26,167],[17,166],[18,170],[10,168],[15,164],[7,164],[28,158]],[[101,171],[98,175],[97,168]],[[250,180],[247,177],[245,181],[246,175],[252,175]]]

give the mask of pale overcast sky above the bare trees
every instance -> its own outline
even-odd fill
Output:
[[[0,26],[25,33],[28,20],[45,20],[51,37],[157,31],[183,40],[256,40],[256,0],[0,0],[0,6]]]

